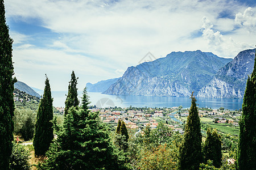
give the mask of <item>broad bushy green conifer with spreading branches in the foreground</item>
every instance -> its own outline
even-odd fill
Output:
[[[78,110],[73,106],[69,108],[63,131],[39,169],[119,169],[108,129],[100,121],[98,112],[82,109],[87,107],[84,104]]]

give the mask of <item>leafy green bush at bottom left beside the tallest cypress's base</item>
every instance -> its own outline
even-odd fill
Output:
[[[31,165],[29,163],[30,153],[24,148],[24,146],[18,145],[13,142],[13,151],[10,156],[10,169],[30,169]]]

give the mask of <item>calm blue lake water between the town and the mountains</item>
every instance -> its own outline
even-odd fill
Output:
[[[52,91],[53,105],[55,107],[64,107],[66,100],[66,91]],[[91,101],[90,105],[97,107],[179,107],[189,108],[191,99],[189,97],[159,97],[159,96],[112,96],[98,92],[88,92]],[[79,96],[82,96],[82,91],[79,91]],[[236,110],[242,108],[243,99],[212,99],[196,97],[198,106],[218,109]],[[79,97],[81,101],[81,97]]]

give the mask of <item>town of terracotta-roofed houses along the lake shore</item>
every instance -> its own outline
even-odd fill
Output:
[[[59,112],[64,112],[63,107],[55,107]],[[99,112],[102,122],[116,127],[118,120],[125,122],[129,129],[143,129],[150,125],[151,129],[155,129],[159,122],[167,124],[174,131],[184,133],[184,124],[189,115],[188,108],[172,107],[172,108],[97,108],[89,109],[92,112]],[[199,117],[201,122],[210,122],[212,124],[230,124],[238,126],[241,111],[229,111],[224,108],[209,109],[199,108]]]

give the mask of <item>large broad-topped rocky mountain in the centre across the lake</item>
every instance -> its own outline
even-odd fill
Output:
[[[190,96],[214,78],[230,59],[212,53],[172,52],[166,57],[128,67],[104,94],[142,96]]]

